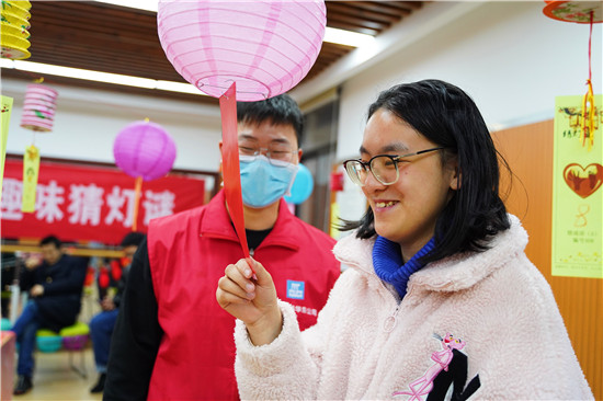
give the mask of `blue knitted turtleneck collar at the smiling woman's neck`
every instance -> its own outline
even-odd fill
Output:
[[[412,273],[419,271],[424,264],[419,259],[435,248],[433,238],[407,263],[402,261],[400,245],[380,236],[377,237],[373,247],[373,265],[377,276],[386,283],[391,284],[401,298],[405,297],[408,279]]]

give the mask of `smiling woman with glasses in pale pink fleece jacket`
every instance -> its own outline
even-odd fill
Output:
[[[241,398],[593,399],[471,99],[437,80],[386,90],[360,153],[344,165],[369,208],[334,248],[350,268],[316,325],[299,332],[258,261],[219,280]]]

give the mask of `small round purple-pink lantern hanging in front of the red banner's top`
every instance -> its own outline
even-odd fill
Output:
[[[151,181],[166,175],[175,160],[175,144],[158,124],[135,122],[113,142],[115,164],[133,177]]]

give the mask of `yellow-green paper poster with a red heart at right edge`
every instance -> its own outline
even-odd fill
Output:
[[[594,137],[582,138],[583,96],[558,96],[553,141],[554,276],[603,278],[603,107],[594,96]]]

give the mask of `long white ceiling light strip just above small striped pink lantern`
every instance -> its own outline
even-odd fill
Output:
[[[58,77],[67,77],[75,79],[84,79],[89,81],[114,83],[120,85],[128,85],[145,89],[159,89],[162,91],[192,93],[204,95],[200,90],[190,83],[160,81],[149,78],[123,76],[120,73],[109,73],[92,70],[84,70],[81,68],[52,66],[42,62],[10,60],[5,58],[0,59],[0,67],[14,68],[16,70],[36,72],[39,75],[50,75]]]

